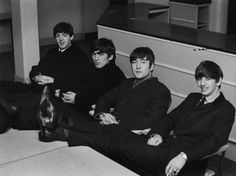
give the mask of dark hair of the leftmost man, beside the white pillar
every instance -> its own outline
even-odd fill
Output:
[[[54,38],[56,37],[57,33],[66,33],[69,34],[71,37],[72,35],[74,35],[73,26],[70,23],[66,22],[57,23],[56,26],[54,26],[53,28]]]

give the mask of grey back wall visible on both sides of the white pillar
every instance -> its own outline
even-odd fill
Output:
[[[83,38],[84,32],[95,32],[96,21],[109,6],[109,0],[38,0],[38,27],[40,44],[53,43],[52,30],[56,23],[70,22],[77,39]],[[0,14],[11,12],[11,1],[0,0]],[[0,22],[1,48],[10,48],[11,29],[8,23]],[[5,50],[5,49],[4,49]],[[3,51],[4,51],[3,50]]]

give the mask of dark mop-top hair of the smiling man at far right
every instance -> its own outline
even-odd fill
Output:
[[[205,60],[202,61],[195,70],[195,79],[202,77],[215,79],[216,82],[223,78],[223,72],[219,65],[215,62]]]

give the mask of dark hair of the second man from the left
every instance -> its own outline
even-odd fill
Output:
[[[91,53],[98,51],[98,53],[106,53],[108,57],[113,55],[112,61],[116,59],[116,48],[114,43],[106,38],[100,38],[91,43]]]

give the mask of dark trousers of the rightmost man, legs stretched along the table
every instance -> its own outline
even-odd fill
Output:
[[[79,117],[78,117],[79,116]],[[181,150],[169,144],[147,145],[147,136],[137,135],[119,125],[100,125],[91,117],[80,114],[69,129],[68,144],[90,146],[140,175],[164,175],[169,161]],[[188,163],[179,175],[204,175],[206,160]]]

